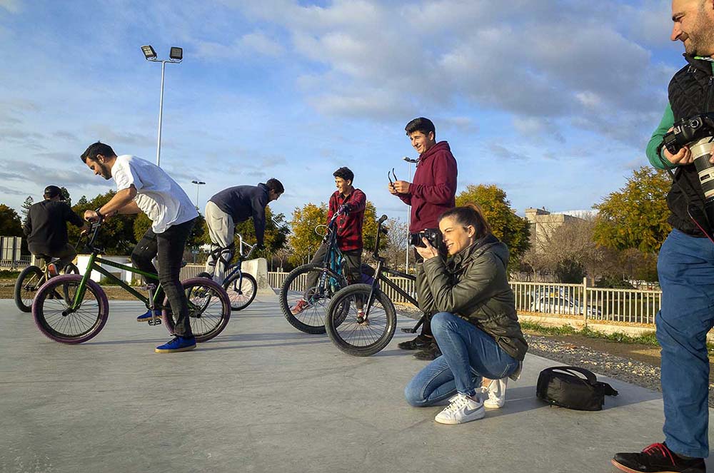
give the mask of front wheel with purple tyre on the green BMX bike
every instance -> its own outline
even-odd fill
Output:
[[[95,337],[109,317],[109,300],[104,290],[89,279],[84,295],[75,304],[81,275],[51,278],[37,291],[32,315],[40,332],[61,343],[81,343]],[[73,305],[76,305],[74,309]]]

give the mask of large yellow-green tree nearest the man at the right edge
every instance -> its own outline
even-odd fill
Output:
[[[659,251],[671,227],[666,195],[672,186],[667,173],[642,167],[633,171],[625,187],[599,204],[595,242],[608,248]]]

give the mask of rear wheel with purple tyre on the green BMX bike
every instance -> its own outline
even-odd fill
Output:
[[[207,278],[191,278],[182,282],[188,300],[188,322],[196,342],[207,342],[226,328],[231,318],[231,300],[226,290]],[[170,307],[168,297],[164,307]],[[164,324],[174,333],[176,315],[164,309]]]

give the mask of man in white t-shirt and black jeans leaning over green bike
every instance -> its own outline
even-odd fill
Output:
[[[131,261],[136,268],[156,274],[152,260],[159,262],[159,282],[176,317],[174,340],[156,347],[157,353],[185,352],[196,348],[196,338],[188,319],[188,301],[179,280],[183,248],[198,213],[188,195],[164,170],[136,156],[116,156],[111,146],[93,143],[84,151],[82,161],[106,180],[114,178],[116,194],[96,210],[86,210],[86,220],[109,218],[117,213],[144,212],[151,228],[136,244]],[[163,301],[163,294],[154,300]],[[151,310],[136,320],[147,322]]]

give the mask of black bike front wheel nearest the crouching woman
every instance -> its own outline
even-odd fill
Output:
[[[371,305],[367,302],[372,286],[349,285],[330,301],[325,329],[330,340],[348,355],[367,357],[386,347],[397,325],[392,301],[375,289]]]

